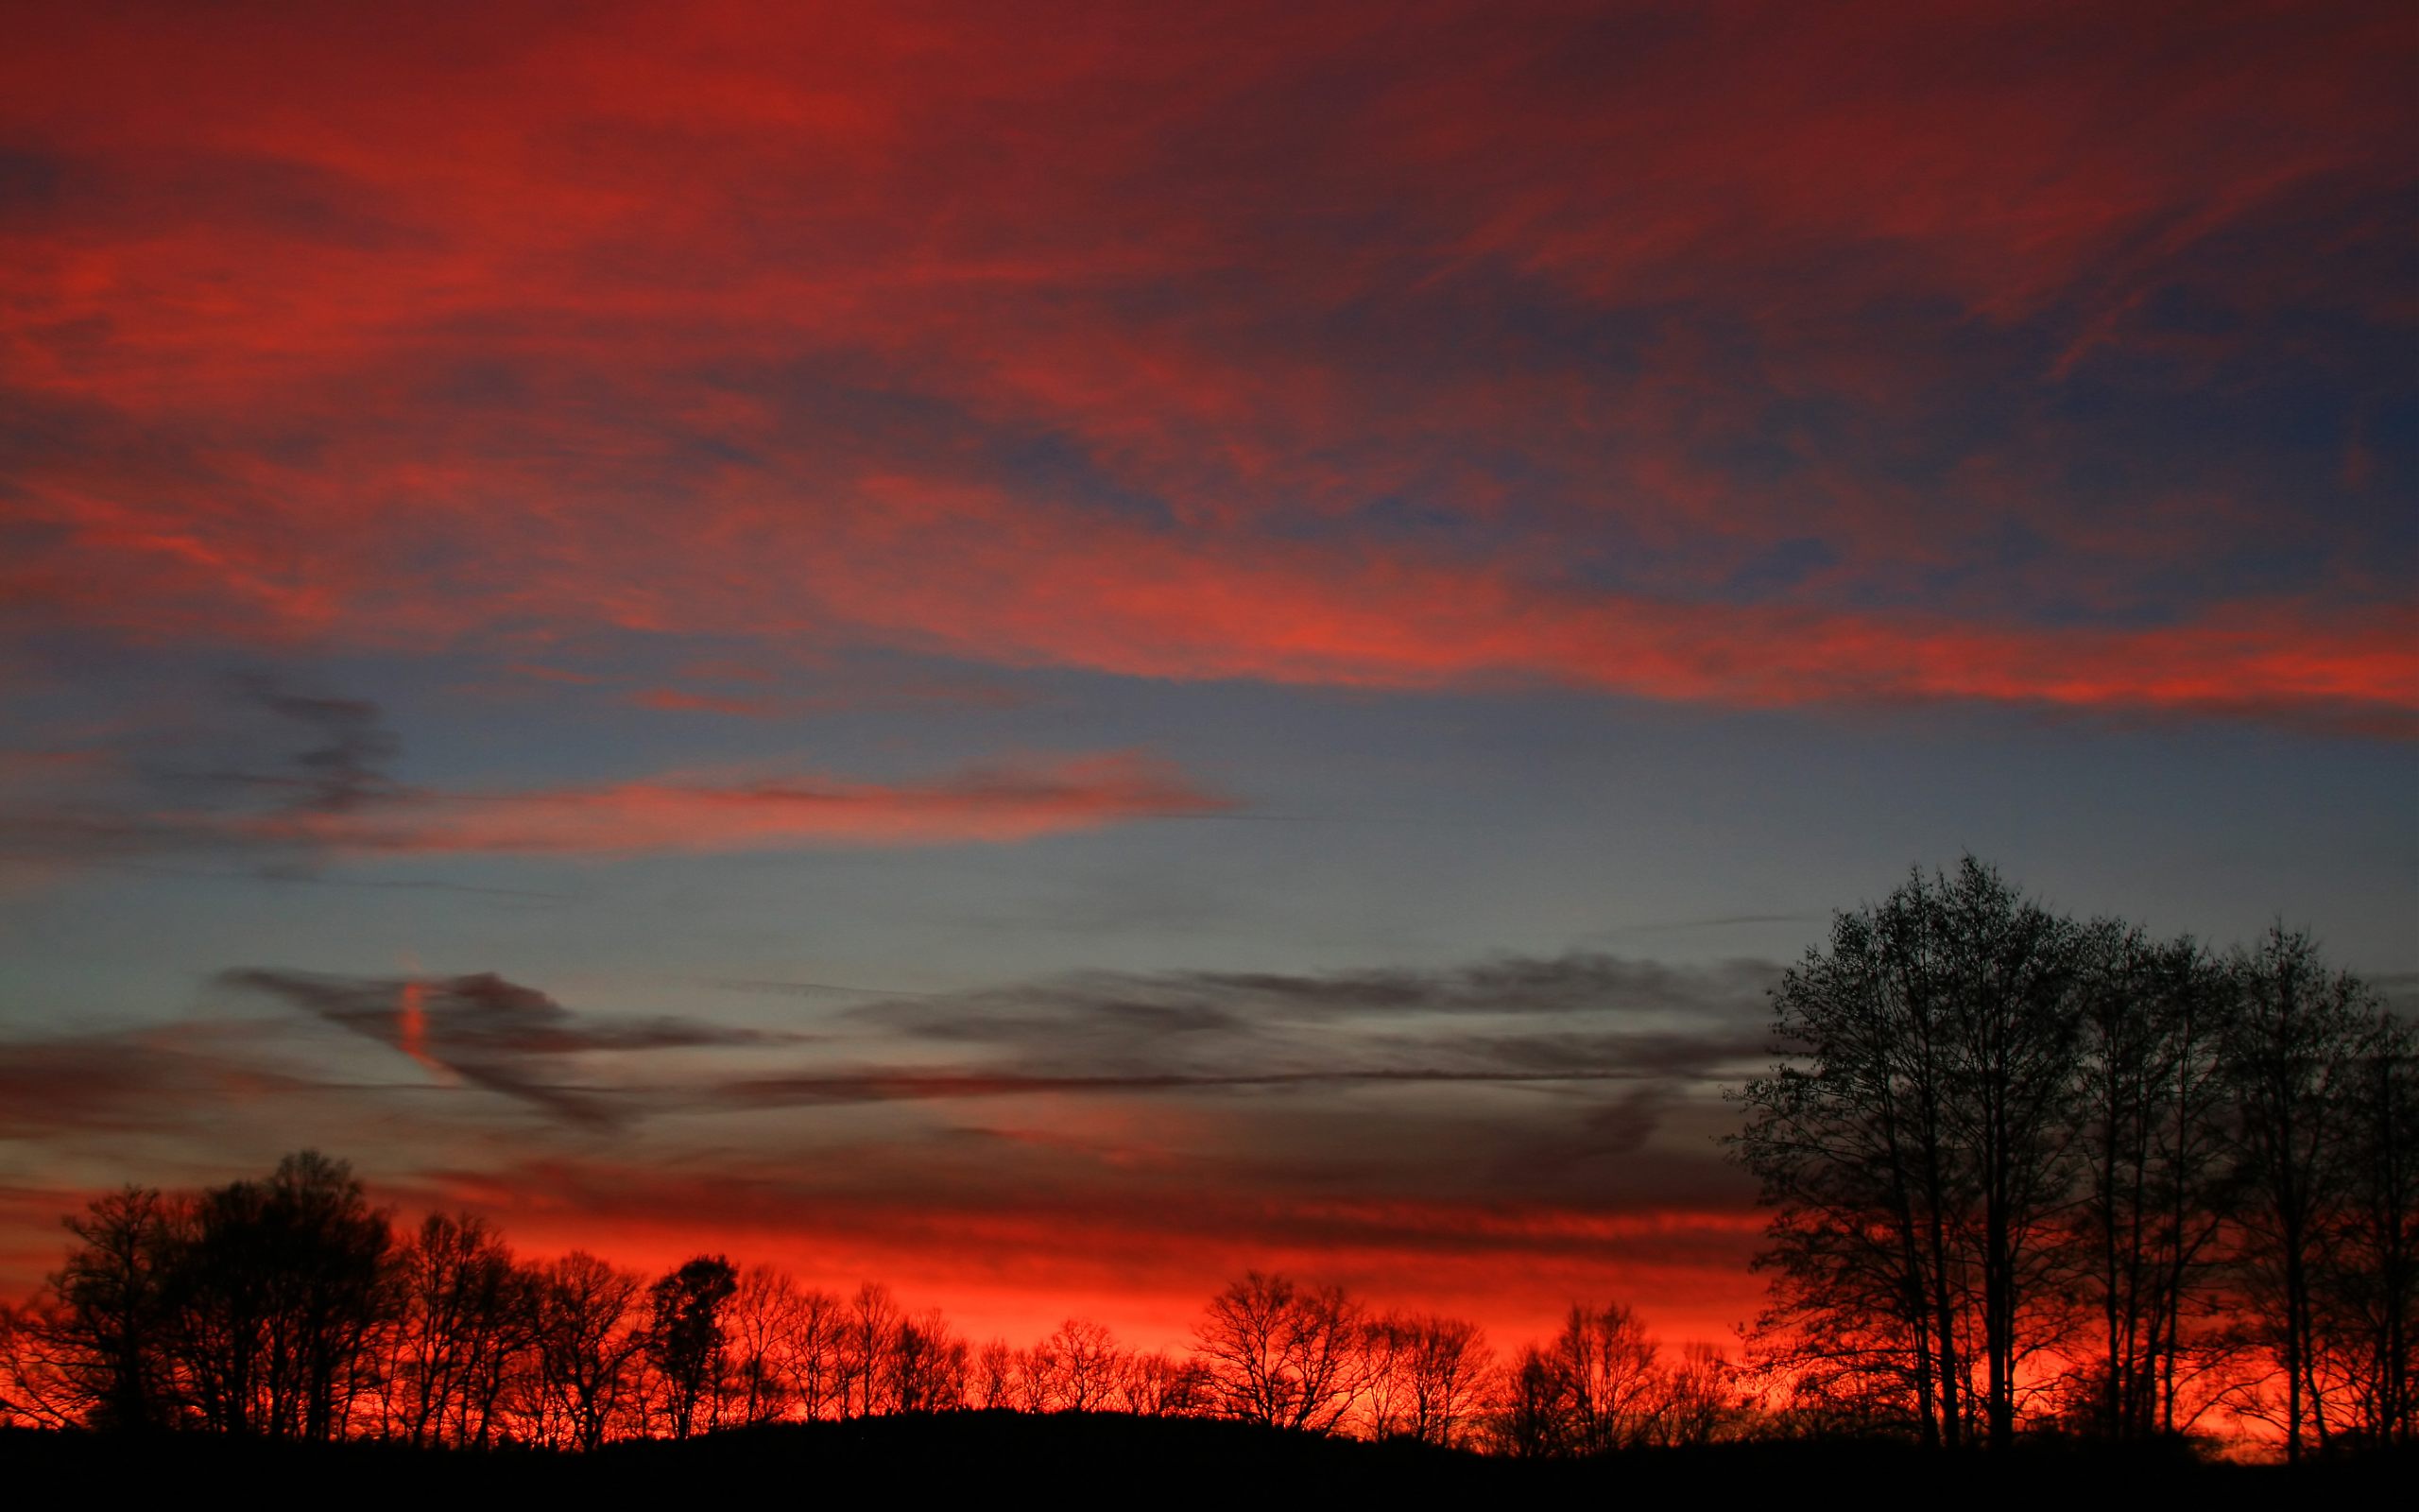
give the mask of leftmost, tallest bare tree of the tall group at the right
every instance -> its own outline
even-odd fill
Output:
[[[2010,1442],[2049,1343],[2027,1304],[2071,1183],[2080,931],[1971,856],[1916,873],[1783,977],[1773,1048],[1734,1142],[1776,1210],[1766,1347],[1928,1444]]]

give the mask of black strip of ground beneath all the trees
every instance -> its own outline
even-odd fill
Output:
[[[387,1502],[428,1493],[537,1495],[554,1505],[561,1497],[694,1505],[711,1495],[907,1505],[936,1497],[1043,1497],[1081,1505],[1226,1502],[1241,1512],[1311,1500],[1362,1507],[1372,1497],[1398,1505],[1507,1507],[1611,1505],[1630,1497],[1650,1497],[1652,1505],[1722,1505],[1756,1495],[1778,1507],[1822,1505],[1836,1495],[1882,1505],[1894,1505],[1901,1495],[1942,1497],[1947,1505],[2063,1495],[2100,1505],[2109,1493],[2131,1493],[2146,1512],[2184,1512],[2148,1500],[2167,1495],[2204,1505],[2206,1497],[2218,1505],[2245,1497],[2276,1505],[2276,1497],[2288,1497],[2288,1510],[2315,1500],[2327,1512],[2349,1512],[2409,1505],[2404,1497],[2419,1488],[2419,1464],[2397,1459],[2284,1471],[2199,1464],[2177,1449],[2027,1447],[1991,1459],[1848,1442],[1720,1444],[1548,1464],[1420,1444],[1321,1439],[1246,1422],[1115,1413],[801,1422],[721,1432],[687,1444],[612,1444],[593,1456],[0,1430],[0,1500],[19,1507],[58,1505],[44,1495],[53,1485],[73,1488],[77,1500],[102,1495],[106,1502],[157,1488],[186,1500],[249,1500],[269,1493],[281,1502],[298,1495]]]

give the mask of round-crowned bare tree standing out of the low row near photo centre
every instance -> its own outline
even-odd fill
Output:
[[[1248,1272],[1210,1302],[1195,1352],[1229,1418],[1333,1432],[1369,1384],[1362,1306],[1343,1287]]]

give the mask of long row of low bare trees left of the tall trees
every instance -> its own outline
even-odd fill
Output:
[[[343,1161],[198,1195],[123,1188],[65,1219],[65,1265],[0,1314],[0,1420],[418,1447],[672,1437],[1009,1408],[1222,1415],[1507,1454],[1732,1430],[1713,1350],[1667,1360],[1626,1306],[1497,1360],[1476,1323],[1248,1272],[1185,1352],[1069,1318],[972,1343],[883,1285],[835,1294],[694,1256],[646,1277],[525,1260],[474,1214],[397,1231]]]

